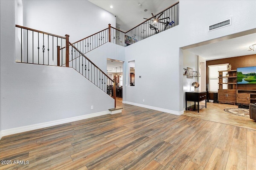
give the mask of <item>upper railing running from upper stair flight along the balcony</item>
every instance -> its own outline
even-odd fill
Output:
[[[83,54],[111,42],[126,47],[152,35],[179,25],[179,2],[124,32],[108,24],[108,28],[73,43]]]

